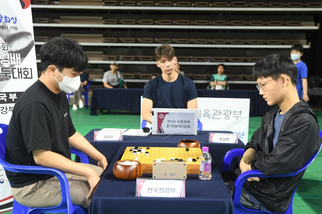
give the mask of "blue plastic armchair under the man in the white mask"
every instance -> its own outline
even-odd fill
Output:
[[[0,124],[2,133],[0,134],[0,164],[8,171],[18,172],[18,173],[36,173],[36,174],[52,174],[55,175],[60,183],[62,188],[62,202],[55,207],[46,207],[46,208],[32,208],[26,207],[19,204],[14,200],[12,213],[13,214],[38,214],[38,213],[67,213],[67,214],[87,214],[88,210],[74,205],[71,203],[71,197],[69,192],[68,180],[66,175],[58,170],[43,166],[23,166],[23,165],[13,165],[5,161],[5,152],[6,152],[6,135],[8,125]],[[89,163],[88,156],[83,152],[72,148],[71,153],[80,157],[82,163]]]

